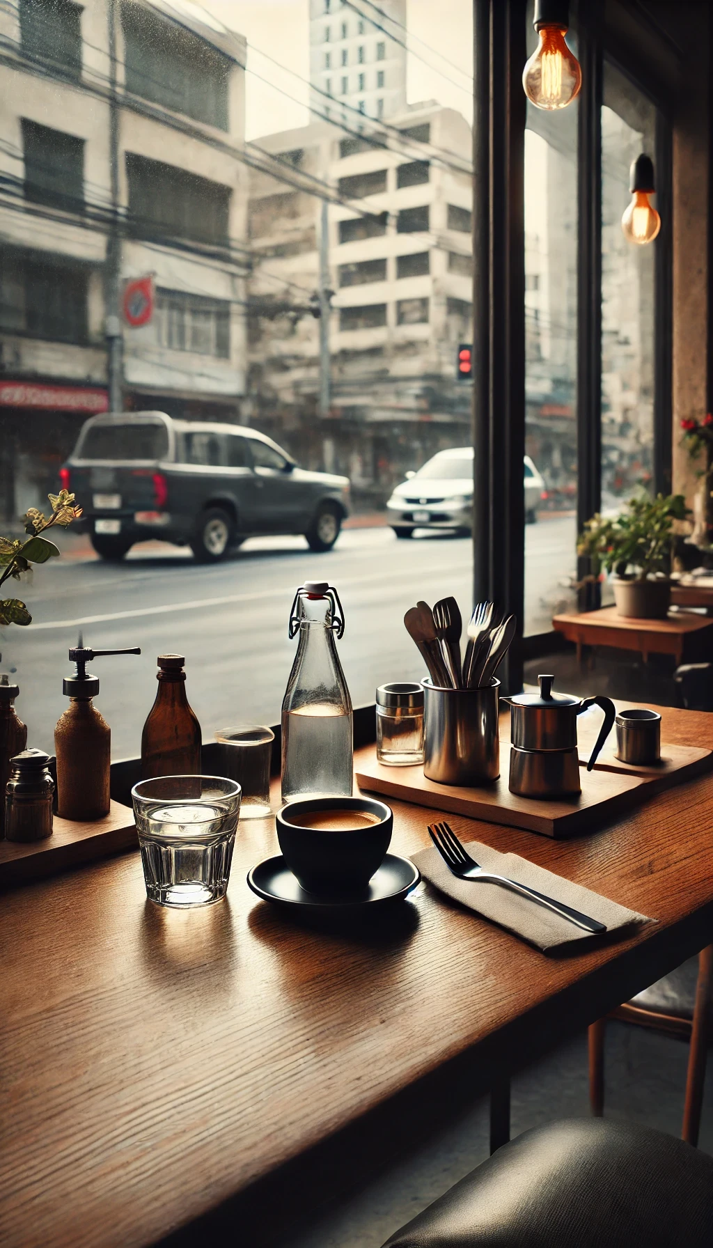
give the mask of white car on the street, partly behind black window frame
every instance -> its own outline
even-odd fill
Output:
[[[524,519],[532,524],[544,490],[529,456],[524,457]],[[397,538],[416,529],[451,529],[470,533],[473,508],[473,448],[440,451],[407,480],[397,485],[386,504],[388,523]]]

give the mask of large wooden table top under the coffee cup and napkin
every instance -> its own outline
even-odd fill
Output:
[[[662,715],[713,746],[713,716]],[[395,850],[425,846],[427,812],[393,811]],[[247,890],[257,821],[206,910],[147,902],[136,852],[6,892],[0,1243],[129,1248],[202,1214],[171,1244],[280,1242],[713,938],[713,776],[574,841],[452,822],[658,924],[544,957],[425,887],[392,926],[315,932]]]

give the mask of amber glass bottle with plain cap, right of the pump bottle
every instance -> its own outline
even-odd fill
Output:
[[[201,774],[201,725],[186,698],[181,654],[160,654],[156,701],[141,734],[141,779]]]

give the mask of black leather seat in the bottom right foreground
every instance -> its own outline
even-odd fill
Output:
[[[526,1131],[383,1248],[711,1248],[713,1158],[647,1127]]]

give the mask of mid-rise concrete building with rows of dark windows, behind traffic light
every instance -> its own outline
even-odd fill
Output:
[[[373,502],[406,469],[471,437],[471,389],[456,377],[458,343],[472,332],[471,130],[435,102],[403,110],[392,125],[403,137],[388,147],[325,122],[260,140],[286,170],[328,182],[342,201],[327,216],[326,419],[317,416],[320,332],[310,314],[321,200],[262,173],[250,191],[247,418],[312,466],[348,473]]]

